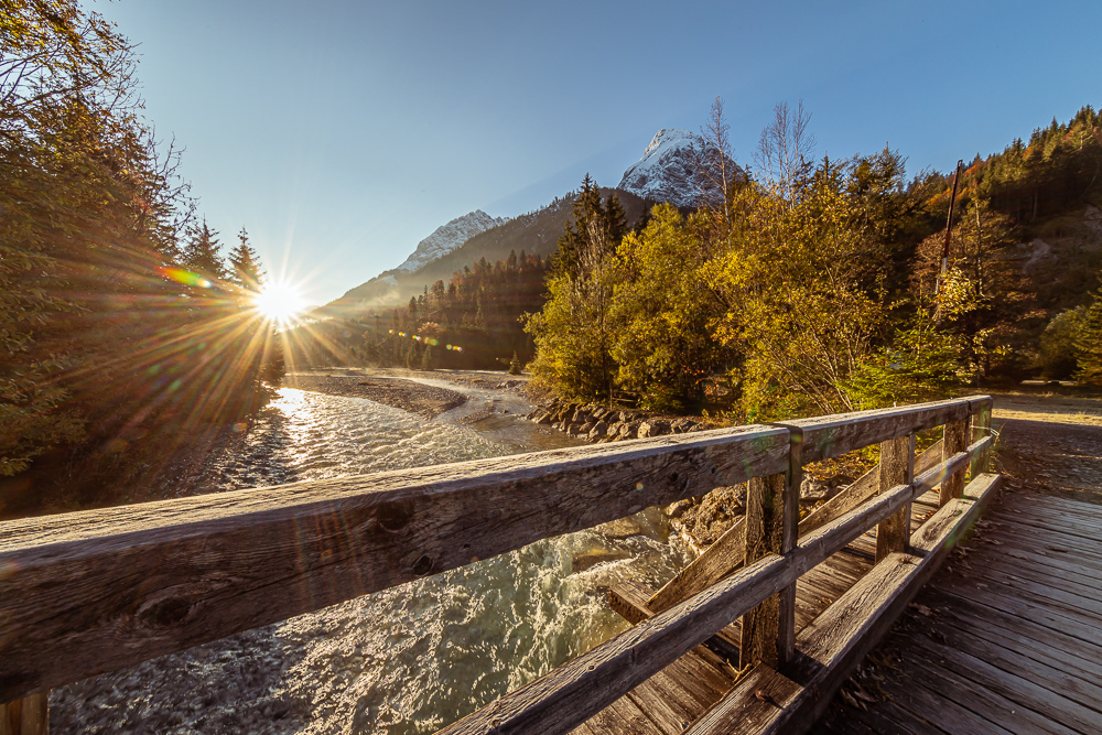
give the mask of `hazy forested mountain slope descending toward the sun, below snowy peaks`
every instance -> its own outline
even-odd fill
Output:
[[[637,223],[652,204],[652,202],[647,202],[629,192],[612,188],[601,190],[602,197],[607,197],[613,193],[619,197],[629,226]],[[570,192],[565,196],[555,197],[551,204],[534,212],[508,220],[498,220],[500,224],[475,234],[458,247],[424,262],[415,270],[404,270],[399,267],[380,273],[370,281],[352,289],[336,301],[329,302],[317,310],[315,314],[317,316],[356,318],[367,313],[368,310],[378,311],[402,305],[409,301],[410,296],[423,293],[425,287],[431,287],[437,280],[447,283],[453,273],[462,271],[465,266],[474,266],[482,259],[493,264],[508,258],[509,252],[516,252],[519,256],[521,251],[545,258],[558,247],[559,236],[562,235],[566,223],[572,217],[572,205],[575,196],[574,192]],[[440,229],[444,229],[444,227]],[[431,237],[422,240],[422,244]],[[418,246],[418,252],[420,251],[421,246]],[[411,262],[417,255],[414,252],[406,262]]]

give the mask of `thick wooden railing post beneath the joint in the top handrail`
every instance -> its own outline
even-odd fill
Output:
[[[749,565],[766,554],[781,553],[784,543],[785,489],[787,473],[752,477],[746,490],[746,554]],[[780,595],[769,597],[743,616],[738,666],[760,661],[777,668]]]

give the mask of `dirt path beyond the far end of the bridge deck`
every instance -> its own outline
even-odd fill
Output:
[[[995,394],[1007,486],[1102,505],[1102,399]]]

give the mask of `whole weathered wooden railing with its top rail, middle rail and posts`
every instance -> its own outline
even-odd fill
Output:
[[[747,480],[744,569],[713,575],[447,732],[568,732],[744,615],[744,630],[761,631],[744,635],[744,650],[784,669],[797,650],[797,579],[876,525],[885,558],[904,551],[904,514],[915,497],[940,485],[943,497],[959,498],[970,462],[980,476],[991,439],[966,447],[963,437],[973,414],[985,432],[991,402],[958,399],[0,523],[0,702]],[[939,425],[944,460],[911,477],[904,445]],[[875,443],[884,447],[882,491],[800,536],[803,463]]]

